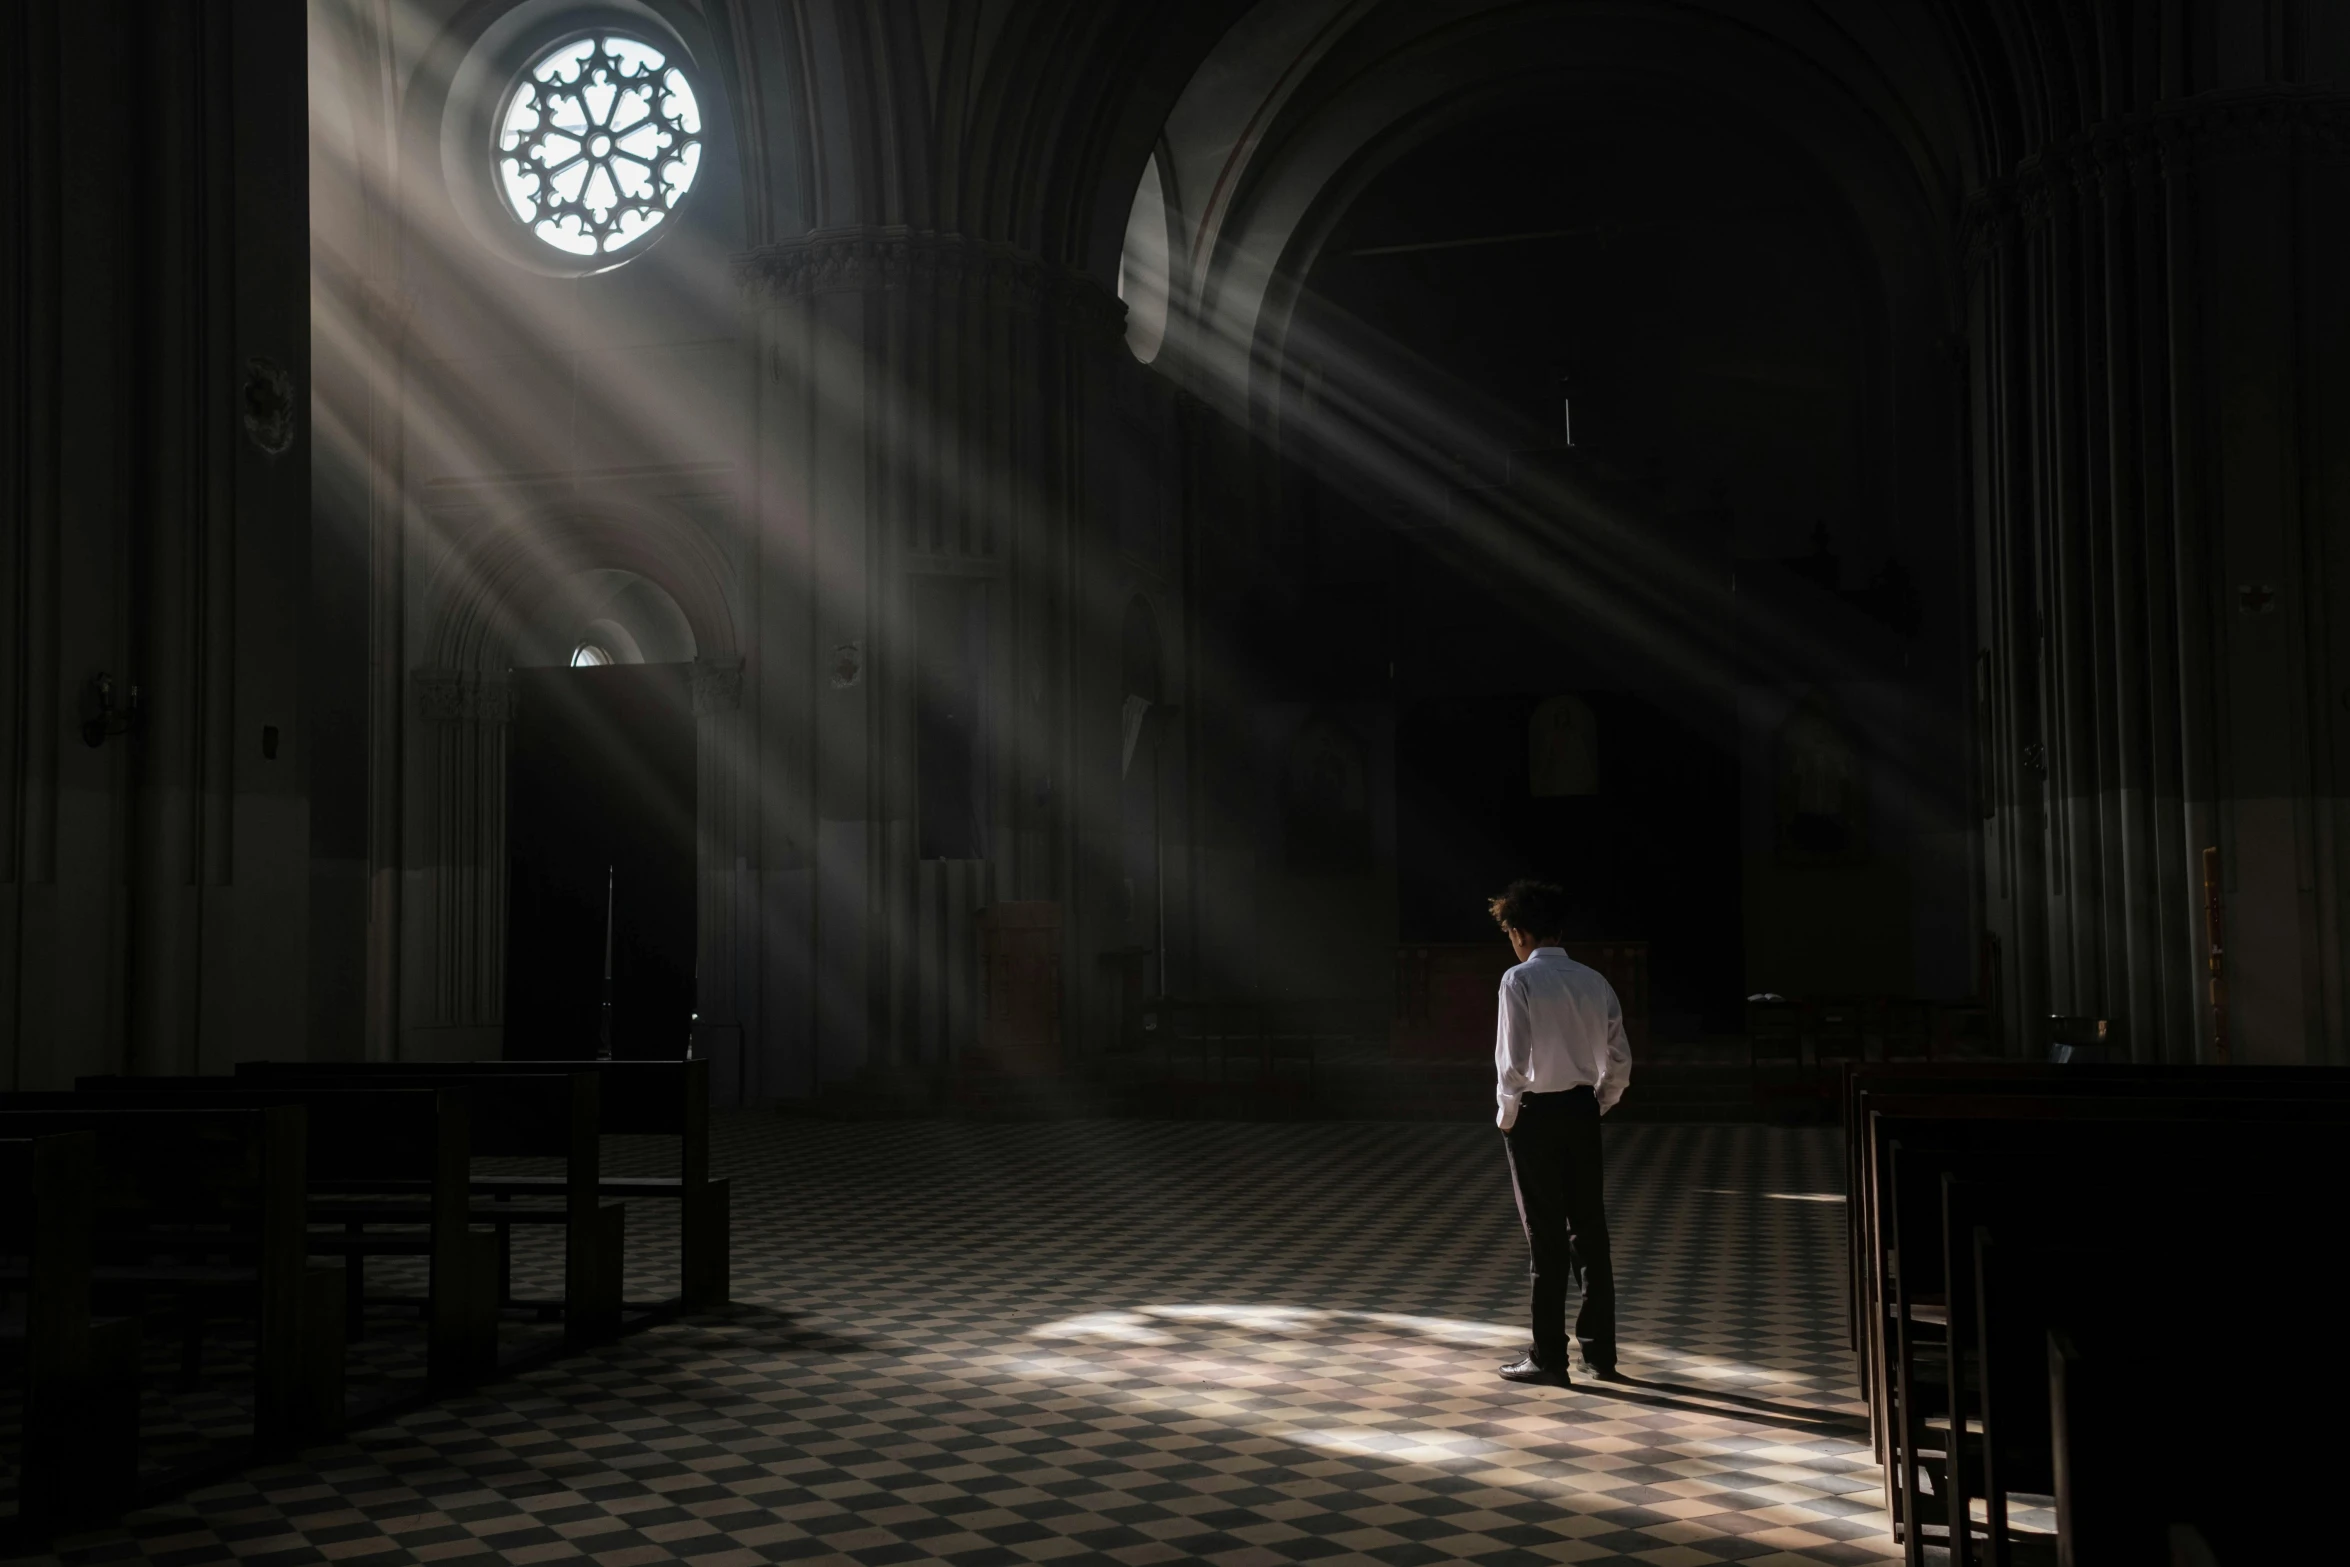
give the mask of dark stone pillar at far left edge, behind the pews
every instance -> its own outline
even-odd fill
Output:
[[[24,334],[0,388],[12,1081],[291,1055],[306,14],[31,0],[0,40],[40,82],[5,110],[0,157]]]

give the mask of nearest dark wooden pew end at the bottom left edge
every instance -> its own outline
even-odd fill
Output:
[[[16,1522],[38,1536],[129,1508],[139,1485],[139,1323],[89,1309],[96,1139],[0,1139],[0,1290],[24,1297]]]

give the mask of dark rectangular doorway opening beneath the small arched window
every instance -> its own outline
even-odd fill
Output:
[[[689,665],[517,670],[508,754],[505,1055],[597,1052],[611,883],[611,1050],[693,1027]]]

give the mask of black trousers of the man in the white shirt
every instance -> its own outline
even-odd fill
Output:
[[[1600,1102],[1589,1088],[1525,1095],[1502,1142],[1535,1276],[1535,1360],[1565,1367],[1567,1283],[1582,1278],[1584,1309],[1574,1316],[1574,1337],[1586,1363],[1614,1365],[1614,1257],[1600,1189]]]

